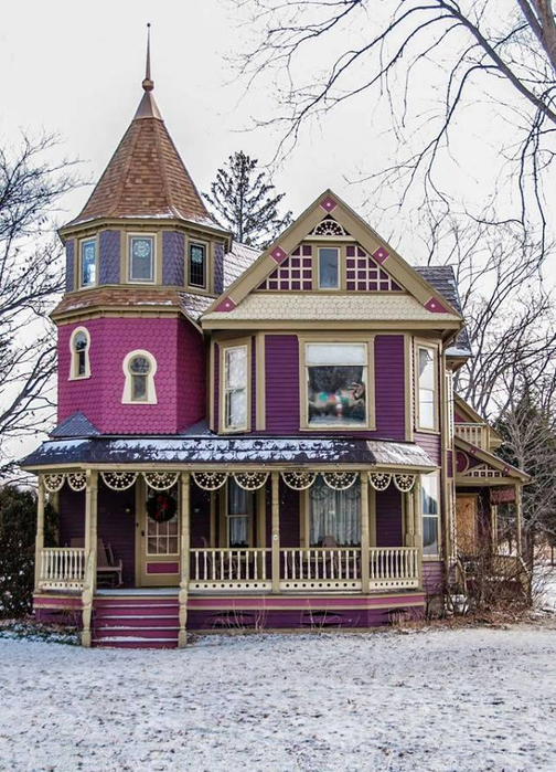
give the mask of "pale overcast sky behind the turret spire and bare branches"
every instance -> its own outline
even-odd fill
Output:
[[[386,6],[377,10],[384,12]],[[97,180],[142,94],[148,21],[156,98],[200,190],[209,190],[217,168],[237,149],[268,162],[276,136],[269,129],[244,130],[254,116],[271,112],[272,77],[244,97],[244,84],[234,80],[226,56],[253,43],[254,34],[248,27],[238,28],[226,0],[6,3],[0,25],[0,142],[17,144],[21,130],[58,131],[60,155],[83,159],[83,177]],[[308,66],[318,70],[318,53],[308,56]],[[435,104],[437,97],[426,83],[414,83],[413,89],[424,110]],[[495,157],[501,140],[489,135],[485,103],[472,104],[466,120],[453,138],[459,162],[445,176],[456,194],[474,202],[493,175],[489,158]],[[386,239],[393,237],[394,244],[402,240],[402,253],[415,263],[423,258],[423,246],[410,229],[403,228],[395,213],[381,223],[365,188],[346,181],[360,171],[382,168],[392,152],[392,138],[384,134],[388,129],[387,112],[375,109],[370,95],[348,102],[303,133],[274,181],[287,193],[286,205],[295,215],[332,188]],[[77,214],[89,192],[90,188],[81,189],[66,198],[61,223]]]

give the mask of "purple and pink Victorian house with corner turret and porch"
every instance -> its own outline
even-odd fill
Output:
[[[58,423],[24,462],[38,616],[169,647],[423,614],[527,479],[455,402],[451,268],[411,267],[330,190],[263,254],[236,243],[142,86],[60,232]]]

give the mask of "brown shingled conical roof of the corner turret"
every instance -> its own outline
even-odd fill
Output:
[[[89,200],[70,224],[98,218],[178,218],[217,226],[147,88]]]

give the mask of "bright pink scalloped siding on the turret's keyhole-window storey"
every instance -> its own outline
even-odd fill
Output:
[[[70,338],[90,334],[90,378],[70,381]],[[124,358],[145,349],[157,359],[157,404],[121,404]],[[181,319],[94,319],[58,330],[58,422],[83,411],[104,433],[175,434],[205,415],[202,337]],[[178,377],[179,374],[179,377]]]

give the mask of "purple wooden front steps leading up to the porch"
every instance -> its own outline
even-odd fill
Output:
[[[95,599],[93,645],[177,648],[180,604],[163,597]]]

